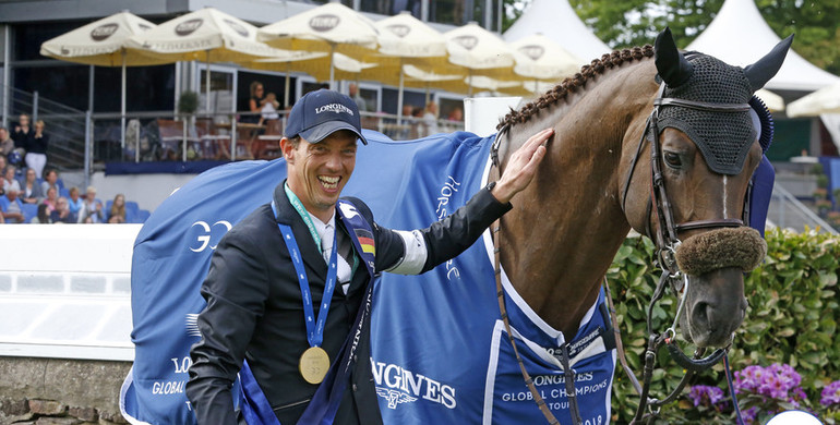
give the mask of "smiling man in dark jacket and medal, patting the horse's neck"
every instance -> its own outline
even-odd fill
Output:
[[[469,247],[512,208],[552,134],[529,138],[497,184],[443,220],[391,230],[375,223],[362,201],[340,198],[358,141],[368,144],[356,102],[326,89],[303,96],[280,141],[287,180],[223,238],[202,286],[207,306],[187,385],[199,424],[276,424],[274,416],[296,424],[322,381],[347,382],[331,398],[337,424],[381,423],[370,364],[356,361],[369,357],[371,280],[380,271],[421,274]],[[348,367],[336,371],[349,372],[327,376],[338,362]],[[251,384],[243,384],[245,399],[271,421],[249,416],[254,409],[235,411],[231,386],[240,371]]]

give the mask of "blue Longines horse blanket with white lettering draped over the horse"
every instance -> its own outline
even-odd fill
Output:
[[[429,226],[485,183],[492,137],[439,134],[394,142],[364,131],[344,194],[393,229]],[[134,244],[135,360],[120,405],[134,424],[193,424],[184,393],[189,350],[200,336],[199,290],[213,250],[231,226],[269,202],[286,162],[244,161],[211,169],[167,198]],[[508,424],[544,421],[526,388],[500,319],[492,247],[484,234],[457,258],[422,276],[385,274],[374,283],[370,357],[386,424]],[[615,366],[603,294],[579,330],[542,321],[503,278],[512,332],[549,408],[569,422],[559,348],[568,343],[585,424],[608,423]],[[232,391],[238,394],[239,391]]]

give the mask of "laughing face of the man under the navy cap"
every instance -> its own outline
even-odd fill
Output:
[[[332,216],[341,190],[353,172],[356,139],[356,134],[341,130],[315,144],[304,139],[297,148],[288,139],[281,144],[288,162],[289,187],[307,210],[322,220]]]

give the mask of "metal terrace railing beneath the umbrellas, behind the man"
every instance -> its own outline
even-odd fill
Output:
[[[125,137],[122,138],[120,113],[92,113],[68,107],[13,87],[9,93],[10,130],[17,117],[29,114],[33,123],[45,121],[50,143],[48,166],[61,171],[84,170],[85,185],[95,169],[106,162],[152,161],[235,161],[271,159],[279,155],[278,143],[288,111],[280,112],[276,122],[260,119],[251,112],[176,114],[171,111],[131,112],[125,114]],[[413,139],[432,133],[464,130],[459,121],[404,117],[382,112],[361,112],[362,127],[376,130],[388,137]]]

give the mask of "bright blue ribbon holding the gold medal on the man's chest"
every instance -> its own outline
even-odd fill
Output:
[[[277,217],[277,207],[274,202],[272,202],[272,211],[274,212],[274,217]],[[286,247],[289,250],[289,255],[291,256],[291,263],[295,265],[295,271],[298,274],[300,294],[303,298],[303,318],[307,324],[307,340],[309,341],[310,347],[321,347],[321,342],[324,340],[326,315],[329,313],[329,303],[333,301],[333,291],[335,290],[338,275],[338,263],[336,262],[338,257],[338,244],[333,243],[333,250],[329,253],[329,263],[327,263],[329,269],[326,274],[324,296],[321,299],[321,309],[317,312],[317,319],[315,319],[315,313],[312,306],[312,293],[309,289],[309,279],[307,279],[307,270],[303,268],[303,259],[300,255],[298,243],[295,240],[295,234],[292,234],[291,228],[286,224],[277,223],[277,227],[280,228],[283,241],[286,242]]]

